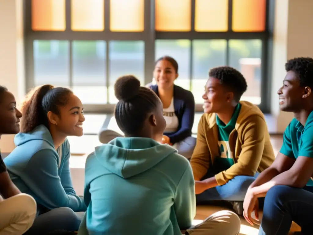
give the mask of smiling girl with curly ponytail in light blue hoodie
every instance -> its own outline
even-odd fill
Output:
[[[25,234],[79,228],[86,205],[72,185],[66,137],[83,134],[82,110],[71,90],[51,85],[35,88],[22,105],[16,148],[4,162],[13,183],[37,202],[37,217]]]

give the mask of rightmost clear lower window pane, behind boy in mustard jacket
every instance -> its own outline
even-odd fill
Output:
[[[261,103],[261,54],[262,42],[253,40],[229,40],[229,65],[245,77],[248,89],[242,100]]]

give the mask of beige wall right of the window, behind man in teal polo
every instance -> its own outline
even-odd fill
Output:
[[[284,132],[293,118],[281,112],[277,90],[285,77],[285,62],[299,56],[313,57],[313,1],[276,0],[271,111],[276,117],[276,132]]]

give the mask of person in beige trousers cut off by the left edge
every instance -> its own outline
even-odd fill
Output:
[[[22,113],[11,92],[0,86],[0,138],[19,132]],[[0,234],[21,235],[33,224],[37,205],[32,196],[13,184],[0,154]]]

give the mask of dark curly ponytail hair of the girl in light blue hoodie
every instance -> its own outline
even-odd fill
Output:
[[[69,94],[72,93],[68,88],[52,85],[39,86],[30,91],[21,108],[23,115],[21,132],[31,132],[42,124],[49,129],[47,113],[51,111],[59,114],[58,107],[65,106]]]

